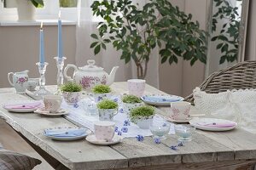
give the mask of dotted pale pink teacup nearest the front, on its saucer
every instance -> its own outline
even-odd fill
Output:
[[[115,122],[100,121],[94,123],[94,133],[98,140],[111,141],[114,129]]]

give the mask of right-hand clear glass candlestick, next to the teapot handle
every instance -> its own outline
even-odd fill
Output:
[[[67,59],[66,57],[55,57],[56,60],[56,66],[58,69],[57,73],[57,91],[55,94],[60,95],[61,94],[61,86],[63,85],[63,66],[64,66],[64,61]]]

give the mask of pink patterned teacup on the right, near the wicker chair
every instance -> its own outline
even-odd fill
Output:
[[[176,121],[186,121],[189,118],[191,104],[186,101],[171,103],[171,115],[169,116]]]

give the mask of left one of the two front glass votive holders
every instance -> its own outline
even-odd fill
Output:
[[[154,135],[153,138],[166,139],[166,134],[170,131],[170,123],[166,120],[153,120],[150,124],[149,129]]]

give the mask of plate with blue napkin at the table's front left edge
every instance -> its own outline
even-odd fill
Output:
[[[84,139],[91,131],[83,127],[55,127],[44,129],[44,136],[49,139],[71,141]]]

